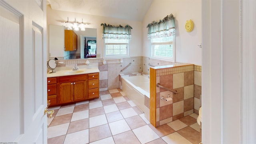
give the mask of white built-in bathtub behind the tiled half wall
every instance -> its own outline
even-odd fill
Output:
[[[150,98],[150,79],[148,76],[122,76],[122,90],[144,112],[149,120],[150,110],[145,106],[145,96]]]

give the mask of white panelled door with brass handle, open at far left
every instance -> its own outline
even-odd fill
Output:
[[[0,0],[0,142],[47,143],[46,0]]]

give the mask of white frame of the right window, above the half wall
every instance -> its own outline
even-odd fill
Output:
[[[158,60],[165,60],[169,62],[175,62],[175,36],[172,37],[172,41],[170,42],[152,42],[151,40],[151,58],[158,59]],[[166,56],[156,56],[154,53],[154,45],[164,45],[164,44],[172,44],[172,58]]]

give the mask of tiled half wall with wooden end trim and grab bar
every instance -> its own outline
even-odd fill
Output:
[[[196,73],[197,74],[197,73]],[[173,94],[156,84],[177,90]],[[170,95],[171,101],[160,100]],[[199,109],[199,108],[198,108]],[[150,68],[150,122],[161,126],[194,113],[194,64],[176,64]]]

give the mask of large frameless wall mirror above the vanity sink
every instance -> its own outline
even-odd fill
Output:
[[[64,51],[64,30],[65,26],[49,25],[49,59],[96,58],[96,28],[74,31],[77,34],[78,42],[78,49],[74,51]]]

